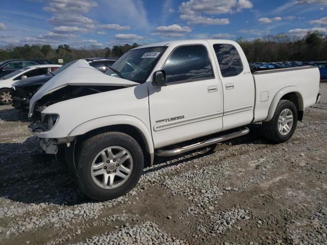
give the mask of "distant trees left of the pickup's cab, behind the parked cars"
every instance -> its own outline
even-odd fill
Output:
[[[7,46],[0,48],[0,61],[8,59],[47,59],[53,63],[58,63],[58,59],[63,59],[64,63],[72,60],[93,57],[120,57],[131,48],[138,47],[137,43],[133,45],[125,44],[123,46],[113,46],[113,48],[98,48],[90,46],[89,48],[75,49],[67,44],[59,45],[53,48],[51,45],[28,45]]]

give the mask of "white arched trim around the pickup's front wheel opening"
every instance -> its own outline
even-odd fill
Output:
[[[154,146],[151,133],[143,121],[129,115],[105,116],[80,124],[67,137],[77,137],[77,141],[108,131],[118,131],[133,137],[145,153],[146,165],[152,166]]]

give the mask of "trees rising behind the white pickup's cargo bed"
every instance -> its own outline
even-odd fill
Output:
[[[249,62],[324,61],[327,60],[327,38],[318,32],[303,38],[281,33],[247,41],[236,40]]]

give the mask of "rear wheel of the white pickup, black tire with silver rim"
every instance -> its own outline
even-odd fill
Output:
[[[286,113],[286,112],[288,112],[288,113]],[[282,113],[284,113],[284,114],[281,115]],[[285,125],[285,127],[283,127],[284,123],[287,120],[291,120],[290,119],[291,114],[293,116],[292,124],[290,124],[290,122],[288,122],[287,123],[288,127],[286,127],[286,125]],[[283,119],[281,119],[281,118],[283,118]],[[284,120],[284,118],[285,118],[285,120]],[[279,120],[280,120],[280,124],[278,122]],[[280,125],[280,127],[279,127],[279,125]],[[292,137],[292,135],[294,134],[294,131],[296,129],[296,125],[297,125],[296,106],[291,101],[281,100],[278,102],[275,113],[274,113],[273,117],[271,118],[271,120],[262,122],[263,134],[264,134],[265,138],[267,138],[268,140],[271,140],[276,143],[282,143],[282,142],[289,140]],[[283,132],[281,132],[279,129],[281,129]]]

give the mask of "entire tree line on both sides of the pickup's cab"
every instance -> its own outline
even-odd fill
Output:
[[[287,34],[267,35],[252,41],[242,37],[236,40],[249,62],[274,61],[325,61],[327,60],[327,38],[321,33],[307,33],[303,38]],[[72,48],[67,44],[53,48],[51,45],[33,44],[24,46],[8,45],[0,49],[0,61],[8,59],[47,59],[64,63],[75,59],[91,57],[120,57],[139,44],[115,45],[112,48]]]

